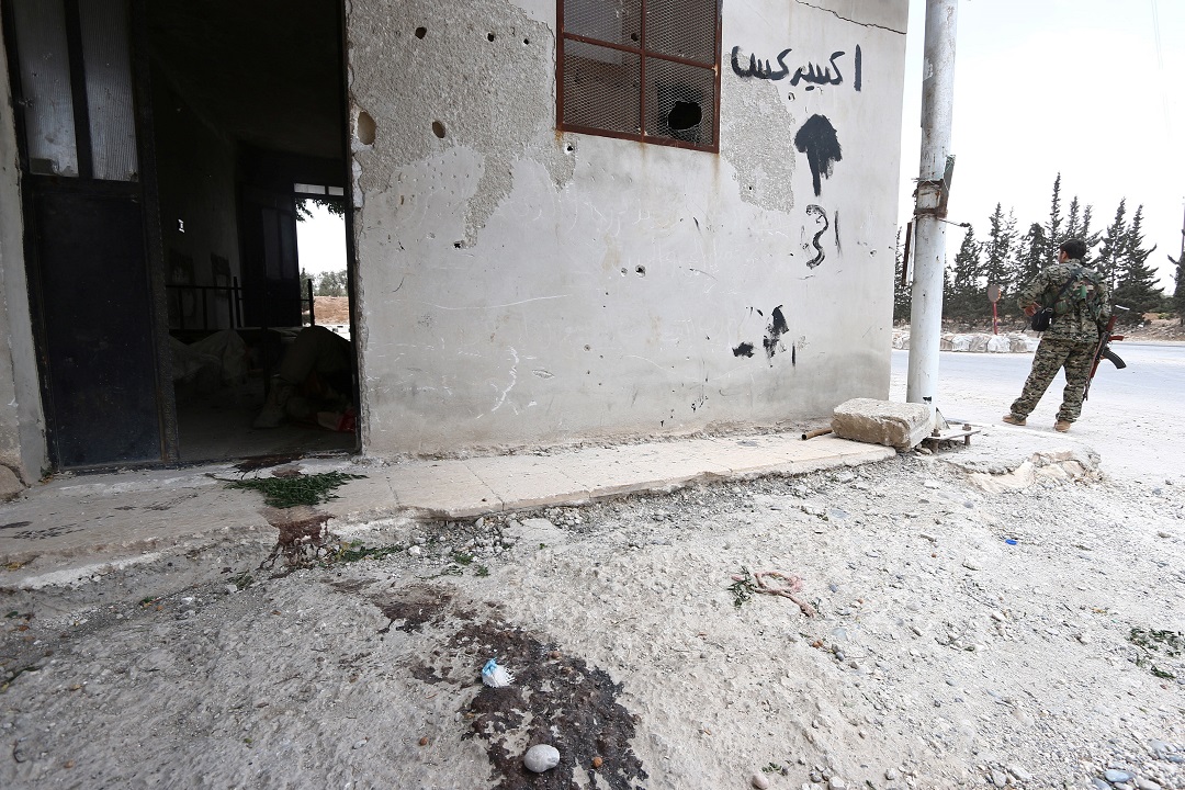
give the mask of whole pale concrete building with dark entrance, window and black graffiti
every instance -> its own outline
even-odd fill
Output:
[[[888,393],[907,0],[2,7],[0,463],[25,483]],[[354,433],[250,429],[302,322],[309,194],[345,198]],[[251,374],[196,386],[175,347],[226,329]]]

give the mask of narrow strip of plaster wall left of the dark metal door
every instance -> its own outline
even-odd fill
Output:
[[[47,456],[25,277],[17,130],[4,50],[0,31],[0,465],[28,484],[40,477]],[[0,489],[5,487],[0,480]]]

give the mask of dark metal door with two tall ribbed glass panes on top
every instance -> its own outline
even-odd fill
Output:
[[[160,462],[175,441],[127,2],[6,0],[4,12],[51,462]]]

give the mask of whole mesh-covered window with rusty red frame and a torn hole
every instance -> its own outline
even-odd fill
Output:
[[[719,150],[719,2],[557,0],[558,127]]]

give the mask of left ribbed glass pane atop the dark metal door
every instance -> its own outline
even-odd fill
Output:
[[[78,175],[70,57],[62,0],[12,4],[28,139],[28,169]]]

